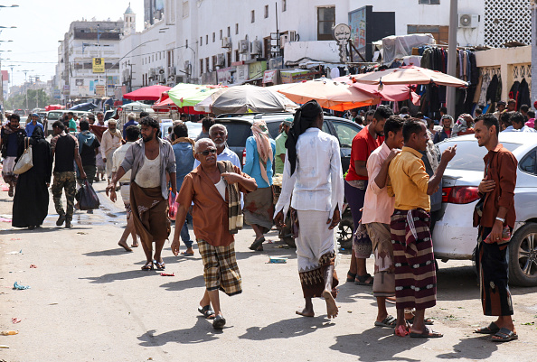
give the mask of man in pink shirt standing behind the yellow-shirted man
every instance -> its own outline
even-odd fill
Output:
[[[390,219],[395,198],[388,196],[386,180],[391,160],[403,146],[403,121],[391,116],[384,125],[384,142],[367,160],[369,183],[365,190],[362,224],[372,240],[375,258],[373,296],[377,298],[377,327],[394,328],[396,319],[388,315],[386,298],[395,295],[393,247],[391,246]]]

